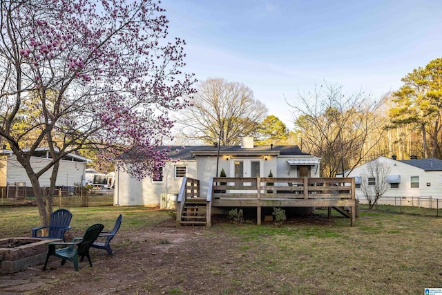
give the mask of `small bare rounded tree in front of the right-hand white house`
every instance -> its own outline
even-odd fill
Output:
[[[390,174],[390,166],[379,158],[367,163],[361,175],[361,191],[367,199],[369,209],[373,209],[374,204],[390,188],[387,182],[388,174]]]

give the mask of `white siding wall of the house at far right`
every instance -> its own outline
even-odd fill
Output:
[[[424,171],[415,166],[404,164],[389,158],[380,157],[379,160],[390,166],[390,175],[401,175],[398,189],[389,189],[383,197],[433,197],[442,198],[442,171]],[[361,176],[366,164],[358,166],[349,174],[349,177]],[[411,187],[410,178],[419,176],[419,189]],[[427,183],[430,186],[427,187]],[[361,189],[356,189],[356,196],[363,196]]]

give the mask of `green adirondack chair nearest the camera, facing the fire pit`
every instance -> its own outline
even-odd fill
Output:
[[[90,260],[89,248],[97,240],[99,234],[104,229],[104,225],[95,224],[91,225],[84,232],[83,238],[73,238],[72,242],[50,242],[48,247],[48,254],[46,255],[46,262],[44,263],[43,270],[46,270],[48,259],[50,256],[56,256],[61,258],[61,265],[69,260],[73,263],[75,271],[78,272],[78,256],[86,256],[89,260],[89,265],[92,266],[92,260]],[[57,246],[67,246],[57,249]]]

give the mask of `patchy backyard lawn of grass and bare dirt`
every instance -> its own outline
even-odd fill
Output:
[[[423,294],[442,287],[442,218],[361,211],[356,227],[334,216],[281,227],[224,220],[211,229],[176,229],[155,226],[169,214],[144,207],[71,211],[75,234],[95,222],[112,227],[123,213],[115,256],[99,252],[94,267],[84,263],[79,274],[63,266],[69,271],[29,294],[61,286],[65,294],[87,294],[69,289],[71,280],[102,294]],[[34,207],[0,207],[0,238],[30,236],[38,220]]]

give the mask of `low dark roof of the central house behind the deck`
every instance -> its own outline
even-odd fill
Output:
[[[169,149],[168,156],[171,159],[192,160],[197,155],[217,155],[218,146],[158,146],[158,149]],[[243,149],[241,146],[220,146],[220,155],[310,155],[302,152],[298,146],[253,146],[251,149]],[[128,155],[122,155],[121,159],[128,160]]]

